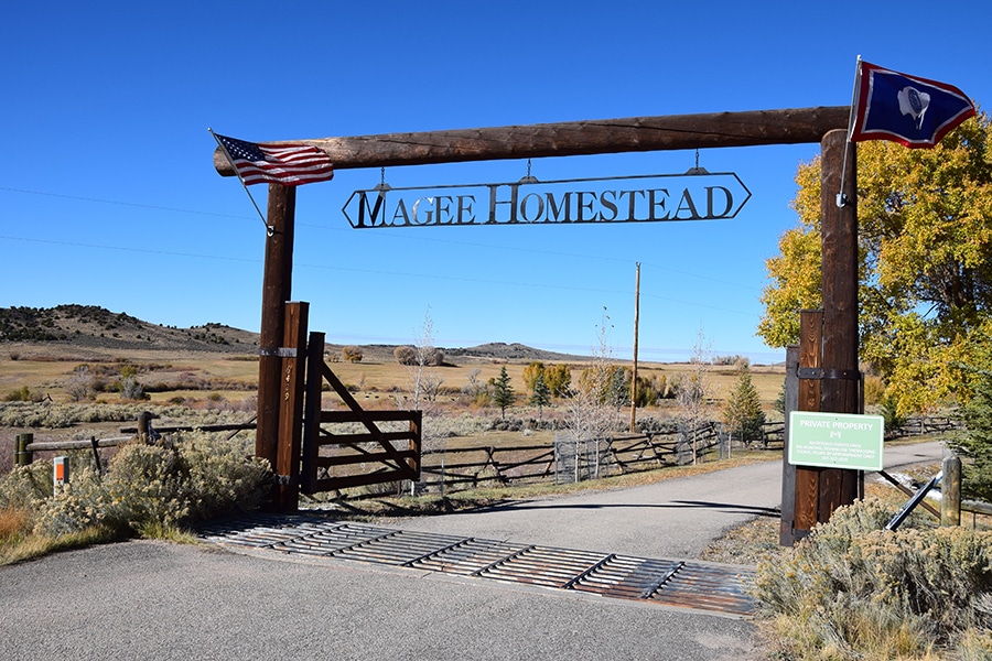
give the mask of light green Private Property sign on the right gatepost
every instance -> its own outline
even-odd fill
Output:
[[[792,411],[789,464],[881,470],[884,436],[885,422],[881,415]]]

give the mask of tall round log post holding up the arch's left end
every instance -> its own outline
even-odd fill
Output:
[[[283,307],[292,299],[294,187],[269,184],[266,264],[262,280],[261,336],[258,349],[258,427],[255,454],[277,469],[282,359],[279,348],[285,327]],[[278,491],[273,490],[273,496]]]

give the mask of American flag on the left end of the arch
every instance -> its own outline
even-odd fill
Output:
[[[256,144],[214,133],[227,151],[231,164],[246,186],[273,183],[299,186],[326,182],[334,177],[331,159],[313,147],[301,142]]]

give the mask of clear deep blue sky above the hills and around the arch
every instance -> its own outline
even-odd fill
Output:
[[[129,6],[130,4],[130,6]],[[990,91],[981,3],[14,2],[0,23],[0,306],[100,305],[257,330],[265,227],[212,163],[251,141],[841,106],[864,59]],[[380,172],[301,187],[293,297],[328,342],[520,342],[629,358],[777,360],[765,260],[818,145],[702,150],[752,198],[732,220],[354,230]],[[679,173],[694,152],[538,159],[538,178]],[[392,186],[516,181],[526,161],[391,167]],[[265,209],[266,186],[252,194]]]

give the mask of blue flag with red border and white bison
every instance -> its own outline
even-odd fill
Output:
[[[931,148],[973,115],[974,104],[953,85],[859,59],[848,139],[892,140],[908,148]]]

